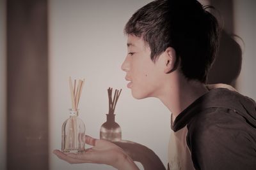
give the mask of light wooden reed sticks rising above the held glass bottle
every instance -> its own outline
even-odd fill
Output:
[[[78,104],[79,104],[79,99],[81,97],[83,85],[84,85],[84,80],[74,80],[74,85],[73,85],[72,79],[71,77],[69,77],[69,88],[70,88],[71,101],[72,101],[72,111],[78,110]]]

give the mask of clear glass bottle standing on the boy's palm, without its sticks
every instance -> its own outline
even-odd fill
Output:
[[[84,151],[84,122],[78,117],[78,110],[70,109],[70,117],[62,125],[61,150],[81,153]]]

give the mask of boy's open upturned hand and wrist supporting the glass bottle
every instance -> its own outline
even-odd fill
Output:
[[[83,153],[64,153],[60,150],[54,150],[53,153],[70,164],[95,163],[108,164],[116,169],[138,169],[122,148],[109,141],[86,136],[85,143],[93,147]]]

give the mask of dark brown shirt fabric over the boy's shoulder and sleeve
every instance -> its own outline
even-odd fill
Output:
[[[195,169],[256,169],[256,104],[228,89],[214,89],[175,118],[188,127],[186,143]]]

